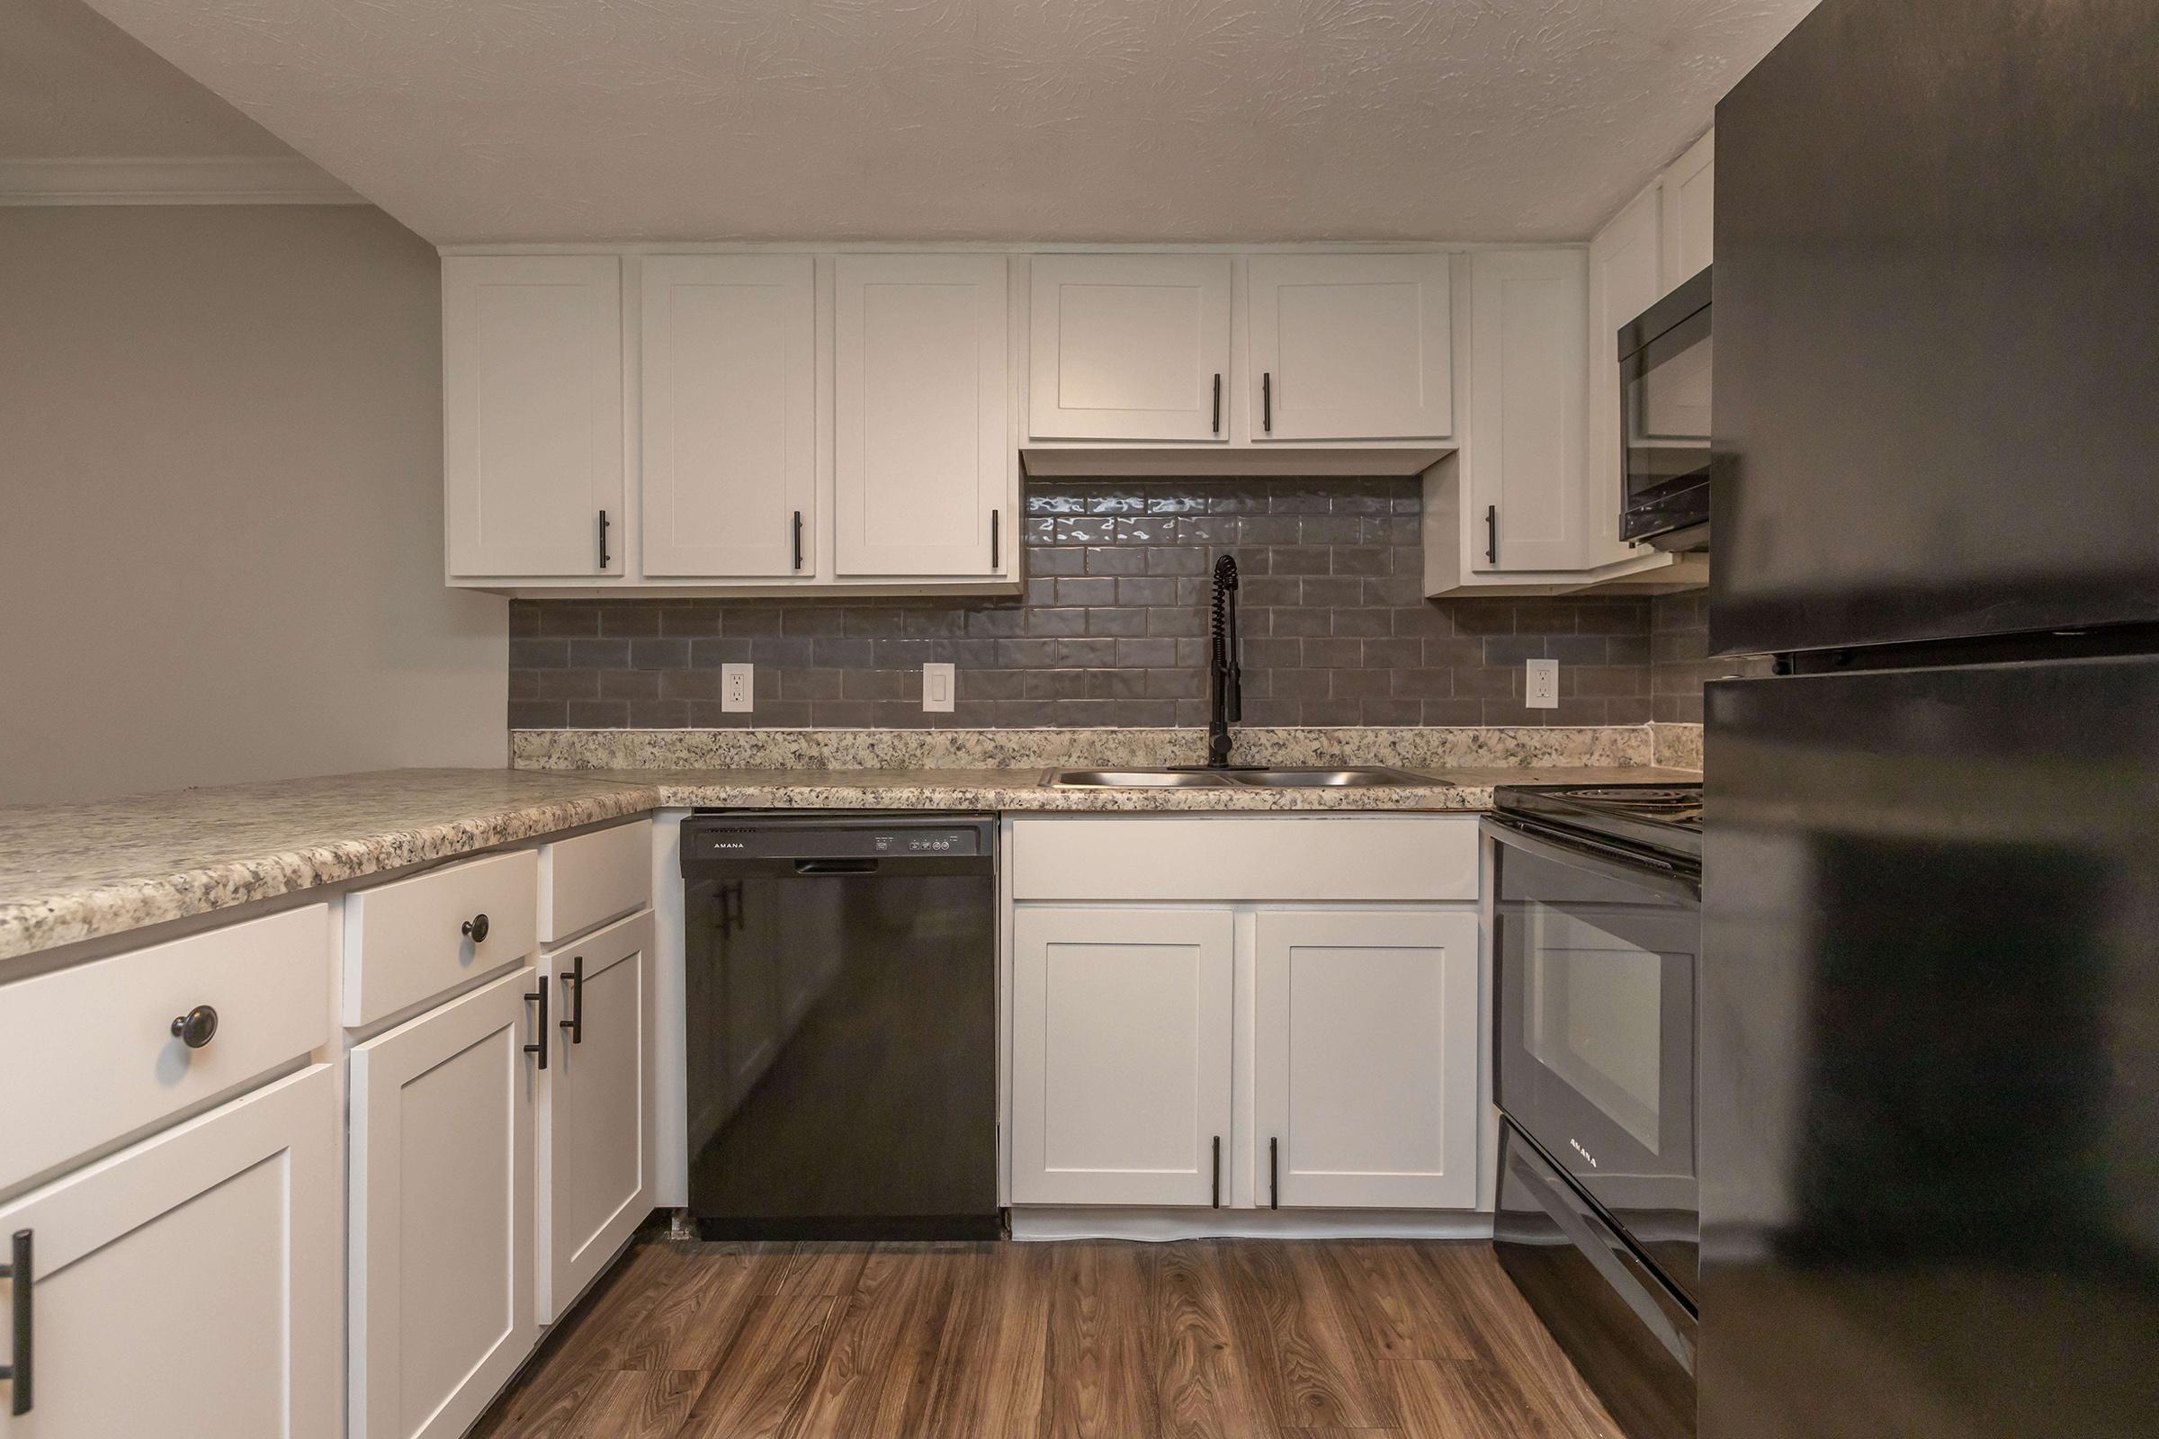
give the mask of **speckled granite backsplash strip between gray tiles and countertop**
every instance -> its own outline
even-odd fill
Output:
[[[1203,729],[512,729],[520,770],[941,770],[1198,764]],[[1649,725],[1250,727],[1239,764],[1643,766]]]

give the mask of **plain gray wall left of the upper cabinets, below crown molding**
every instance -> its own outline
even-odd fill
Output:
[[[371,207],[0,209],[0,800],[505,764],[438,315]]]

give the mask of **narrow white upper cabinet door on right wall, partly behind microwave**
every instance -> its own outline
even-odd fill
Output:
[[[1589,460],[1585,565],[1632,559],[1619,539],[1619,328],[1665,293],[1660,190],[1645,190],[1589,242]]]

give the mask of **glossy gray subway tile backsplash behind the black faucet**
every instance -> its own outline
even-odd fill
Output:
[[[1017,598],[516,600],[510,727],[1205,725],[1222,552],[1246,723],[1699,718],[1699,595],[1425,600],[1418,509],[1416,479],[1032,483]],[[1557,710],[1522,705],[1524,658],[1561,662]],[[741,660],[756,710],[723,714]],[[926,662],[959,667],[950,714]]]

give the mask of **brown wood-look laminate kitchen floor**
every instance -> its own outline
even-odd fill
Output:
[[[641,1241],[475,1439],[1619,1439],[1490,1245]]]

